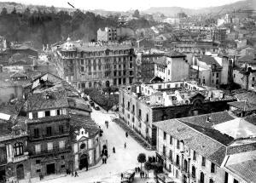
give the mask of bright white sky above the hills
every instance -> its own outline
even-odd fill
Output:
[[[7,2],[8,0],[0,0]],[[234,3],[238,0],[11,0],[10,2],[39,4],[55,7],[70,8],[67,2],[79,9],[106,9],[112,11],[125,11],[129,9],[148,9],[150,7],[183,7],[202,8]]]

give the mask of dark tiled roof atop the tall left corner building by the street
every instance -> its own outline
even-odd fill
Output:
[[[49,95],[49,99],[46,99],[46,95]],[[65,90],[49,92],[48,94],[35,93],[29,96],[26,102],[28,112],[68,107]]]

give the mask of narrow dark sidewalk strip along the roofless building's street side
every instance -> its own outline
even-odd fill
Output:
[[[137,134],[136,131],[132,130],[122,119],[114,118],[113,122],[117,123],[119,127],[124,129],[134,140],[137,140],[137,142],[143,146],[148,151],[153,151],[154,147],[151,146],[148,141],[144,140],[143,137],[140,136],[140,134]]]

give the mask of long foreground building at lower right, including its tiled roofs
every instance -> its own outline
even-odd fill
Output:
[[[175,182],[254,182],[256,126],[230,112],[154,123],[157,160]],[[249,129],[249,130],[247,130]]]

